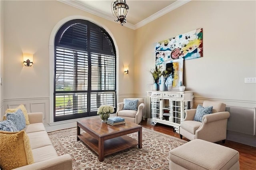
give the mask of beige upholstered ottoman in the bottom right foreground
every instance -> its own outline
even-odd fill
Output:
[[[169,152],[170,170],[239,170],[239,152],[194,139]]]

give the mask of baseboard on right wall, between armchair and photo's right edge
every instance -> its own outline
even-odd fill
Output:
[[[227,140],[256,147],[256,136],[227,130]]]

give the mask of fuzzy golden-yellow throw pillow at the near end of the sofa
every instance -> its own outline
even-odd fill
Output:
[[[28,135],[18,132],[0,131],[1,169],[14,169],[34,163]]]

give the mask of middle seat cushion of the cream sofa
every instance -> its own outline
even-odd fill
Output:
[[[31,149],[52,145],[46,131],[28,133],[28,137],[30,139]]]

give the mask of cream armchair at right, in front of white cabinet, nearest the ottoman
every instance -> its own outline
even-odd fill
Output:
[[[226,112],[226,105],[219,102],[204,101],[203,107],[212,106],[212,113],[204,115],[202,122],[193,121],[196,109],[186,110],[186,117],[180,124],[180,138],[185,136],[189,140],[202,139],[209,142],[225,142],[227,122],[230,116]]]

